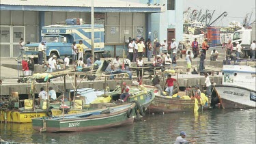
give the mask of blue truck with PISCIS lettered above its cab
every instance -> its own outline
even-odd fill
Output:
[[[42,41],[46,42],[46,57],[57,55],[62,59],[68,55],[72,59],[73,42],[85,44],[84,59],[91,55],[91,25],[49,25],[42,27]],[[40,43],[25,45],[24,57],[35,57],[38,61],[38,46]],[[104,53],[104,26],[94,25],[94,54],[100,57]]]

